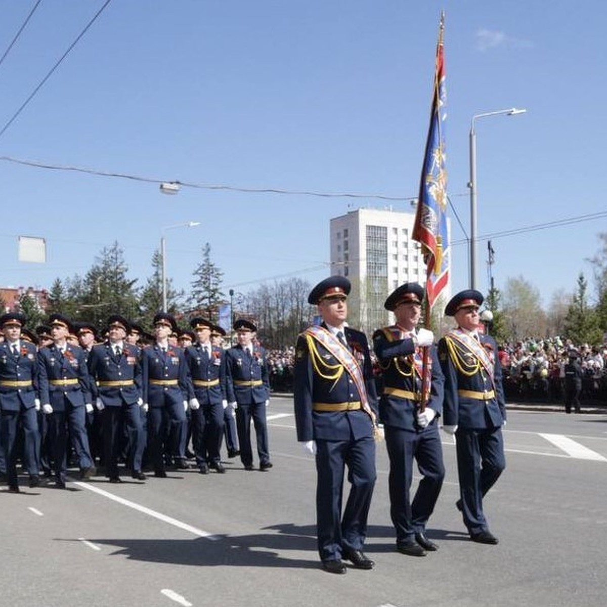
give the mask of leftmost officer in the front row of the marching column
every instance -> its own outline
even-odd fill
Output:
[[[0,327],[4,341],[0,344],[0,443],[5,456],[8,490],[19,492],[17,480],[17,432],[19,422],[24,431],[24,464],[30,476],[30,487],[40,484],[38,419],[38,364],[36,346],[21,339],[25,316],[2,314]]]

